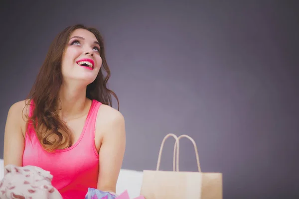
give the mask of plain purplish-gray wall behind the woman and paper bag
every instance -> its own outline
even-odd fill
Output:
[[[28,94],[54,36],[100,29],[126,119],[123,168],[155,169],[188,134],[224,199],[299,198],[298,2],[1,1],[0,158],[9,106]],[[173,140],[162,170],[172,169]],[[180,169],[196,171],[181,141]]]

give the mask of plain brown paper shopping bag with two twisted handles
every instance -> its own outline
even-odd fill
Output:
[[[173,171],[159,171],[163,145],[168,137],[175,139]],[[194,145],[198,172],[180,172],[179,139],[185,137]],[[167,134],[162,140],[155,171],[144,171],[141,195],[146,199],[222,199],[222,173],[203,173],[195,141],[188,135]]]

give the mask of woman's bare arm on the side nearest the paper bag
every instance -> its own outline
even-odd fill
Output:
[[[105,122],[100,121],[103,136],[99,151],[97,189],[115,193],[126,148],[125,119],[119,111],[111,107],[105,109]]]

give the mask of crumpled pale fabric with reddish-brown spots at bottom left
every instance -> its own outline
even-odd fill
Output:
[[[62,199],[51,182],[50,172],[35,166],[4,167],[0,199]]]

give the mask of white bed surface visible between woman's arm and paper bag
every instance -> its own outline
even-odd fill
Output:
[[[3,160],[0,159],[0,180],[3,178]],[[116,186],[116,193],[121,194],[128,190],[130,198],[140,195],[143,172],[122,169]]]

